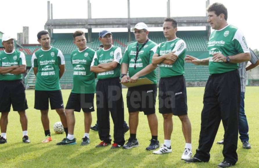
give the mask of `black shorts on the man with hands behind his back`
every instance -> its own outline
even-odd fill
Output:
[[[64,108],[61,90],[35,90],[34,108],[37,110],[48,109],[48,99],[52,110]]]

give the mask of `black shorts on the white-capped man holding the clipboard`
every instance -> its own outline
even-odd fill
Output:
[[[156,112],[157,84],[129,87],[127,107],[129,113],[141,111],[145,115]]]

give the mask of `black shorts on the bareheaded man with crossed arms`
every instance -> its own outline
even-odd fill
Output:
[[[173,113],[175,116],[187,114],[187,93],[183,75],[160,78],[159,113]]]

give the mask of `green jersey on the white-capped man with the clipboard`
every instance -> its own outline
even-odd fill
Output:
[[[136,61],[136,69],[134,69],[135,65],[135,57],[136,57],[136,45],[137,42],[131,43],[125,50],[123,55],[123,63],[129,65],[129,77],[132,77],[137,72],[141,71],[143,68],[152,63],[152,56],[157,50],[157,43],[148,40],[143,48],[141,48],[142,44],[139,44],[139,55]],[[148,78],[150,81],[157,83],[156,70],[153,70],[149,74],[144,76],[140,76],[139,78]]]

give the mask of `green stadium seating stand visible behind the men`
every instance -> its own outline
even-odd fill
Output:
[[[87,34],[86,34],[87,36]],[[206,31],[179,31],[177,32],[177,37],[183,39],[186,42],[186,54],[203,59],[207,56],[207,32]],[[122,52],[127,48],[129,43],[135,41],[134,34],[131,35],[131,42],[128,42],[127,32],[114,32],[113,33],[113,44],[119,46]],[[149,38],[156,42],[161,43],[166,41],[163,36],[163,32],[150,32]],[[92,33],[91,43],[87,43],[87,46],[93,50],[97,50],[100,46],[100,41],[98,40],[98,33]],[[76,49],[73,44],[73,38],[71,33],[59,33],[53,34],[53,39],[51,40],[51,45],[60,49],[65,57],[66,70],[64,75],[60,80],[61,87],[64,89],[69,89],[72,87],[73,83],[73,67],[70,62],[70,53]],[[31,56],[33,52],[37,51],[39,46],[26,46],[24,48],[18,48],[18,50],[26,54],[27,66],[31,66]],[[157,68],[157,82],[159,82],[159,68]],[[186,81],[206,81],[209,76],[208,66],[196,66],[191,63],[185,63],[185,74]],[[29,71],[25,78],[25,83],[28,88],[34,88],[35,78],[33,71]]]

